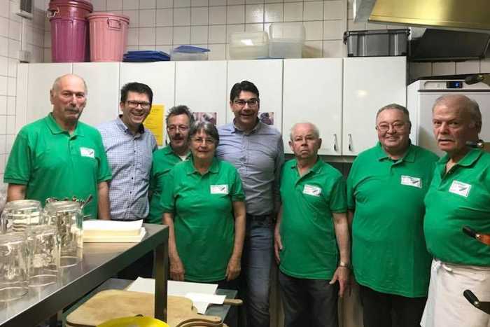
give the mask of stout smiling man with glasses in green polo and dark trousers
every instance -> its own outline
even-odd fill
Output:
[[[404,106],[376,116],[377,146],[360,153],[347,179],[352,264],[365,327],[418,327],[426,303],[430,255],[423,238],[423,197],[437,156],[410,143]]]

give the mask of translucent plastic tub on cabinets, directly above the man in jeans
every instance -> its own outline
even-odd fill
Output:
[[[304,39],[302,22],[273,22],[269,26],[269,57],[301,58]]]

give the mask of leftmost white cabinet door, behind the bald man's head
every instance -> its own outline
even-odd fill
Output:
[[[20,66],[27,67],[27,74],[25,74],[25,68],[19,69],[20,79],[18,80],[17,88],[20,95],[17,104],[18,112],[24,112],[23,109],[25,109],[25,120],[22,121],[23,126],[45,117],[52,111],[52,104],[50,102],[52,83],[59,76],[70,74],[71,64],[21,64]],[[25,86],[22,87],[22,85]],[[20,86],[21,88],[19,88]],[[25,92],[24,99],[27,99],[26,102],[22,102],[22,94],[20,92]],[[17,127],[22,126],[18,125]]]

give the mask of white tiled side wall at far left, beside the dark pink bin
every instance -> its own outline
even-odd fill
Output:
[[[15,99],[19,50],[43,62],[45,0],[35,0],[34,19],[15,15],[19,0],[0,0],[0,177],[15,137]]]

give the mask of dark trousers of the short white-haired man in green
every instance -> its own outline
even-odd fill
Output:
[[[300,279],[279,271],[284,327],[337,327],[339,284],[323,279]]]

